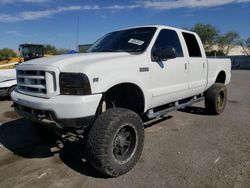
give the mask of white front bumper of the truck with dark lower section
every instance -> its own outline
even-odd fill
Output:
[[[20,115],[37,121],[52,120],[62,128],[79,127],[83,119],[94,117],[101,97],[102,94],[87,96],[58,95],[45,99],[24,95],[16,91],[11,93],[15,110]]]

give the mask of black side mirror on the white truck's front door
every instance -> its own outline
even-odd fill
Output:
[[[154,61],[166,61],[177,57],[175,49],[171,46],[156,48],[153,52]]]

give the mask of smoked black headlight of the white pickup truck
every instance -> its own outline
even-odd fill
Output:
[[[89,79],[82,73],[62,72],[59,76],[61,95],[90,95]]]

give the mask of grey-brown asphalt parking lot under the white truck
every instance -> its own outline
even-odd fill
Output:
[[[250,187],[250,71],[233,71],[220,116],[203,103],[148,124],[141,159],[106,178],[79,143],[59,143],[0,101],[0,187]]]

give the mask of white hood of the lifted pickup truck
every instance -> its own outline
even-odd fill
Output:
[[[104,63],[105,61],[115,61],[117,59],[122,60],[126,58],[136,57],[126,52],[104,52],[104,53],[80,53],[80,54],[67,54],[57,55],[44,58],[33,59],[22,64],[24,65],[45,65],[54,66],[60,69],[60,71],[67,70],[81,71],[87,66],[95,65],[97,63]],[[81,68],[81,70],[79,70]]]

